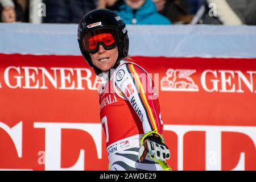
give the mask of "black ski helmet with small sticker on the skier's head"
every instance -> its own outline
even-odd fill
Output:
[[[113,28],[117,31],[120,43],[118,44],[118,59],[115,66],[119,63],[119,60],[125,58],[128,54],[129,49],[129,38],[127,35],[127,28],[125,22],[120,18],[117,13],[107,9],[98,9],[90,11],[86,14],[79,22],[79,27],[77,30],[77,40],[79,42],[79,48],[90,67],[94,68],[97,75],[102,73],[100,69],[95,67],[92,63],[92,59],[88,52],[86,52],[82,45],[82,39],[84,35],[88,32],[104,29]]]

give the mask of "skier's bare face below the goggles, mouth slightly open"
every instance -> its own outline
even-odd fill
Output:
[[[98,52],[90,53],[92,63],[101,71],[109,71],[115,65],[118,58],[118,48],[105,50],[102,45],[99,46]]]

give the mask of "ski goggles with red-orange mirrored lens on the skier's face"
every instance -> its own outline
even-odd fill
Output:
[[[108,28],[88,32],[82,39],[82,46],[88,53],[96,53],[100,45],[106,50],[112,49],[120,43],[117,30]]]

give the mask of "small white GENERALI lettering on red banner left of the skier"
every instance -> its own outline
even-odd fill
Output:
[[[5,85],[11,89],[65,89],[97,90],[104,83],[96,76],[92,80],[92,71],[88,68],[44,68],[44,67],[7,67],[3,74]],[[49,84],[46,83],[49,81]],[[86,82],[86,84],[85,84]],[[3,84],[0,82],[0,88]]]

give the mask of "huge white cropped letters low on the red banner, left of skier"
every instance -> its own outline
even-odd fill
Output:
[[[19,158],[22,158],[22,121],[10,128],[0,122],[0,128],[9,134],[15,144]],[[35,122],[34,128],[45,129],[45,170],[84,170],[85,151],[80,150],[79,159],[69,168],[61,168],[61,129],[77,129],[89,133],[96,145],[97,157],[102,158],[102,129],[100,123],[53,123]]]

